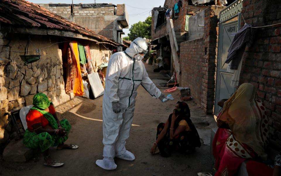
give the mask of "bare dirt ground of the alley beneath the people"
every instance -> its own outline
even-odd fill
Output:
[[[145,65],[150,79],[164,92],[167,87],[161,87],[169,77],[154,73],[151,65]],[[192,92],[192,90],[191,90]],[[165,93],[167,95],[167,93]],[[213,116],[206,116],[193,100],[186,101],[191,110],[191,119],[201,137],[201,148],[189,155],[174,152],[169,158],[159,154],[151,155],[150,148],[155,142],[156,128],[160,122],[165,122],[179,101],[179,90],[172,92],[173,101],[161,103],[154,99],[143,87],[138,88],[136,108],[127,140],[126,149],[135,154],[134,161],[115,158],[117,169],[103,170],[95,164],[102,159],[102,96],[97,99],[76,97],[65,104],[56,107],[59,118],[66,118],[72,124],[71,134],[66,143],[79,145],[77,150],[50,149],[54,160],[65,163],[63,167],[52,168],[43,165],[41,155],[27,163],[5,163],[0,175],[186,175],[196,176],[197,172],[212,170],[213,161],[210,155],[210,129],[214,127]],[[208,144],[208,145],[206,145]],[[0,166],[1,167],[1,166]]]

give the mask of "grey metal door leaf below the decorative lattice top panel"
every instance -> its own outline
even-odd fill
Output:
[[[228,64],[225,63],[227,58],[227,50],[231,44],[234,33],[237,32],[238,21],[222,23],[219,29],[219,48],[217,57],[217,75],[216,75],[216,92],[215,92],[215,115],[220,113],[221,107],[217,106],[217,102],[221,99],[228,99],[235,91],[231,87],[231,78],[233,73],[227,72]]]

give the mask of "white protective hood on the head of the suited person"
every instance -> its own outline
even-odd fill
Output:
[[[130,48],[127,48],[125,50],[126,54],[129,55],[131,58],[134,58],[134,56],[138,53],[147,53],[147,44],[143,38],[136,38],[132,41]],[[139,60],[139,59],[138,59]]]

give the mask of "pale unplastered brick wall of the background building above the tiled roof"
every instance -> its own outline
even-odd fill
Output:
[[[101,8],[74,6],[75,15],[72,18],[71,6],[50,7],[49,4],[39,5],[80,26],[86,27],[104,37],[118,42],[118,33],[116,29],[118,28],[118,20],[121,20],[122,16],[114,14],[114,6]],[[118,4],[117,11],[119,14],[122,12],[124,14],[124,4]]]

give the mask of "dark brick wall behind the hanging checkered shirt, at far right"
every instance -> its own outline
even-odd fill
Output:
[[[244,0],[246,23],[256,26],[281,23],[281,1]],[[241,20],[241,26],[244,21]],[[281,25],[258,28],[254,44],[245,50],[239,84],[257,90],[269,116],[270,143],[281,146]]]

